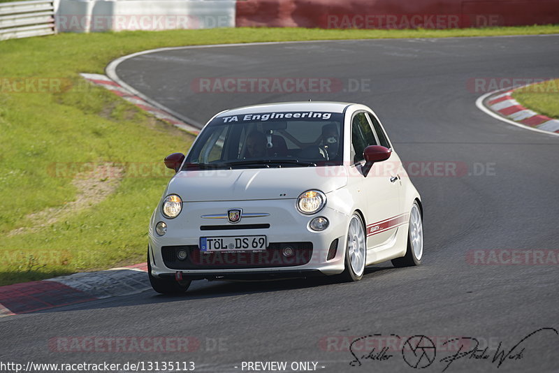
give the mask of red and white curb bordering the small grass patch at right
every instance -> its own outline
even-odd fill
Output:
[[[559,136],[559,119],[538,114],[533,110],[525,108],[512,98],[513,92],[519,88],[522,87],[489,92],[479,97],[476,105],[480,110],[503,122],[532,131]]]

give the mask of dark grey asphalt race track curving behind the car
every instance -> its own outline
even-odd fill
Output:
[[[147,291],[10,316],[0,319],[0,360],[179,360],[194,361],[200,372],[240,372],[247,360],[318,361],[324,372],[414,372],[405,358],[417,363],[421,349],[415,357],[389,351],[393,356],[388,360],[350,365],[349,342],[379,333],[402,340],[425,335],[437,344],[476,337],[480,348],[489,344],[489,359],[467,356],[446,372],[557,372],[559,335],[553,330],[522,342],[512,353],[524,349],[517,360],[498,367],[491,358],[500,341],[508,352],[539,328],[559,330],[558,265],[467,261],[472,250],[559,249],[559,139],[489,117],[474,105],[484,92],[467,87],[479,77],[556,77],[557,61],[559,36],[213,47],[122,62],[116,71],[122,80],[198,123],[225,108],[269,101],[365,103],[377,112],[404,161],[463,162],[470,175],[413,177],[425,206],[425,256],[419,267],[377,265],[352,284],[197,281],[187,295],[175,298]],[[370,89],[194,92],[196,78],[212,77],[357,78],[370,79]],[[169,153],[179,150],[186,149]],[[490,170],[481,172],[479,165]],[[52,338],[75,336],[191,336],[201,344],[188,353],[57,352],[48,344]],[[326,340],[330,344],[322,343]],[[432,358],[433,349],[425,351],[418,367]],[[357,355],[368,352],[361,349]],[[440,360],[453,353],[440,347],[435,361],[421,371],[442,372],[446,364]]]

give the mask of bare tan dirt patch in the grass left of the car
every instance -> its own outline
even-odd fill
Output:
[[[124,175],[124,169],[112,163],[103,163],[96,168],[96,171],[99,173],[86,172],[75,175],[72,181],[73,186],[78,189],[75,200],[61,207],[50,207],[27,215],[26,219],[31,227],[16,228],[8,233],[8,237],[36,232],[105,200],[117,189]]]

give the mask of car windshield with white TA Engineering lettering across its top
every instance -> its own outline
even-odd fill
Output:
[[[199,135],[184,168],[340,165],[342,119],[336,112],[224,114]]]

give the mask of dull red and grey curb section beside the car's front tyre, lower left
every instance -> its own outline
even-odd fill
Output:
[[[0,317],[43,311],[151,288],[147,263],[0,286]]]

